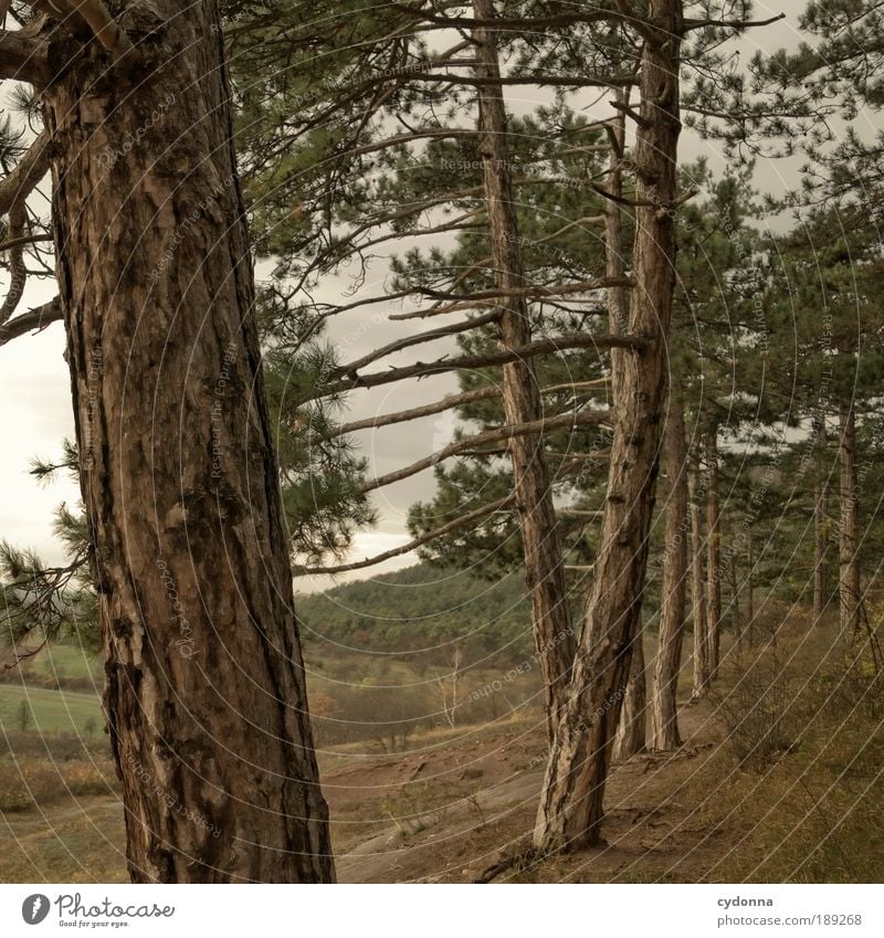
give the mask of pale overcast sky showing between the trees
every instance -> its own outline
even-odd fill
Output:
[[[802,6],[798,0],[775,4],[758,3],[756,15],[759,19],[780,11],[785,11],[788,19],[743,40],[741,54],[750,55],[759,43],[768,51],[781,45],[793,48],[797,43],[797,13]],[[529,93],[524,89],[520,94],[522,99],[509,95],[511,107],[514,109],[528,109],[532,104],[541,103],[540,97],[530,98]],[[871,119],[863,116],[862,120],[864,129],[869,130]],[[724,169],[720,154],[715,145],[708,141],[684,135],[681,152],[683,159],[706,155],[714,170]],[[768,164],[758,168],[757,182],[768,191],[781,192],[796,185],[796,181],[794,164]],[[379,271],[378,281],[368,284],[366,288],[372,293],[380,292],[383,288],[385,273]],[[3,284],[3,289],[6,286],[7,284]],[[343,281],[330,278],[324,284],[323,294],[327,297],[339,296],[344,287]],[[54,292],[54,285],[51,283],[30,285],[21,310],[44,302]],[[401,310],[398,304],[390,304],[383,312]],[[371,329],[360,329],[355,320],[343,320],[334,324],[329,338],[346,346],[341,357],[344,360],[350,360],[386,340],[402,335],[403,325],[383,322],[373,325]],[[412,328],[427,328],[427,323],[417,320]],[[421,357],[427,357],[429,348],[421,349]],[[438,351],[440,347],[433,348]],[[4,453],[0,462],[0,537],[22,547],[34,547],[51,560],[61,559],[60,548],[51,533],[53,510],[60,502],[75,502],[78,493],[67,479],[59,479],[48,487],[41,487],[28,474],[28,468],[34,455],[56,456],[62,439],[73,434],[70,386],[63,351],[61,324],[51,326],[40,335],[22,337],[0,348],[0,393],[3,400],[0,411],[0,439],[4,442]],[[414,360],[413,354],[411,357],[404,355],[388,361],[390,365],[400,365],[409,360]],[[436,400],[455,388],[454,376],[440,376],[422,381],[417,387],[409,382],[389,384],[370,392],[361,391],[350,398],[350,417],[358,419],[413,407]],[[453,428],[451,415],[442,414],[376,433],[362,433],[358,442],[369,459],[371,474],[381,474],[444,445],[451,439]],[[380,523],[375,530],[359,536],[354,559],[402,544],[408,538],[404,531],[408,506],[419,498],[431,496],[430,472],[413,476],[377,494]],[[413,558],[401,559],[398,563],[388,565],[382,569],[404,566],[412,560]],[[371,576],[377,570],[356,576]],[[297,581],[296,587],[302,590],[315,589],[317,583]]]

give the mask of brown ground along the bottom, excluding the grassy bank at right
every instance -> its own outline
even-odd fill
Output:
[[[719,853],[692,822],[682,789],[719,738],[707,705],[685,707],[685,746],[618,766],[608,790],[609,845],[501,878],[693,882]],[[448,738],[446,738],[448,737]],[[330,753],[323,774],[338,878],[349,883],[472,882],[530,831],[543,781],[543,728],[527,720],[465,727],[407,755]],[[324,760],[325,761],[325,760]],[[116,794],[62,798],[0,813],[0,881],[126,882]]]

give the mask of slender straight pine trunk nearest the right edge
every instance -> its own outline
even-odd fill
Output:
[[[841,531],[838,599],[841,632],[856,635],[860,631],[860,506],[856,478],[856,421],[853,403],[845,401],[839,411],[841,431]]]

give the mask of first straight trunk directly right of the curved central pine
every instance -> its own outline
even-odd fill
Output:
[[[676,694],[682,666],[685,600],[687,596],[687,446],[684,411],[673,397],[665,429],[666,503],[665,555],[660,608],[660,640],[654,660],[653,697],[651,702],[651,748],[677,749]]]

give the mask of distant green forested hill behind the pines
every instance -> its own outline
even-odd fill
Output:
[[[497,582],[462,570],[418,563],[370,580],[298,596],[302,635],[308,645],[409,652],[446,645],[452,639],[473,657],[497,652],[524,657],[534,649],[522,572]],[[341,650],[343,651],[343,650]],[[451,654],[449,646],[440,654]]]

